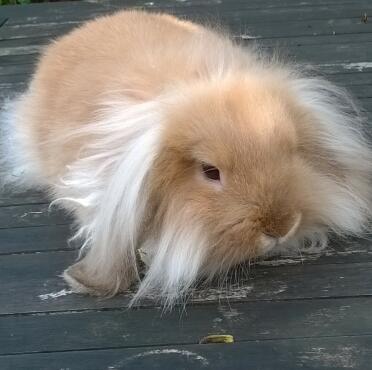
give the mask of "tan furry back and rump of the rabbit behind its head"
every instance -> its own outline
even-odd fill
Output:
[[[216,42],[225,55],[214,55]],[[224,42],[228,40],[203,35],[202,28],[167,15],[122,12],[90,22],[50,45],[19,114],[33,139],[42,177],[58,181],[90,141],[86,135],[67,149],[56,138],[95,121],[107,101],[149,101],[167,85],[213,68],[218,57],[232,62]],[[208,49],[213,54],[209,61],[203,56]]]

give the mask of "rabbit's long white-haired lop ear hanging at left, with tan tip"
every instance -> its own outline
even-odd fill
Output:
[[[74,183],[78,193],[89,193],[68,198],[81,212],[73,239],[84,241],[83,258],[64,273],[77,292],[114,295],[139,280],[136,250],[149,213],[148,182],[159,142],[158,123],[155,102],[131,107],[111,103],[102,121],[84,128],[84,133],[96,134],[96,142],[64,179]]]

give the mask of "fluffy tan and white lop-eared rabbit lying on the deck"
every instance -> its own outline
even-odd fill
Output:
[[[138,282],[132,304],[172,305],[244,261],[369,227],[371,147],[347,92],[171,15],[120,11],[57,39],[8,121],[8,162],[76,221],[78,293]]]

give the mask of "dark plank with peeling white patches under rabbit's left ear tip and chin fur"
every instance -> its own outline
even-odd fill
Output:
[[[76,256],[77,252],[69,251],[0,256],[0,314],[125,307],[128,304],[130,292],[108,300],[75,294],[58,297],[67,289],[58,275]],[[251,268],[247,277],[241,277],[239,284],[224,284],[223,288],[217,285],[200,287],[192,293],[190,301],[370,296],[371,279],[372,262],[257,266]],[[56,293],[58,298],[53,298]],[[49,299],[42,299],[43,296]],[[144,301],[143,305],[152,306],[154,301]]]

